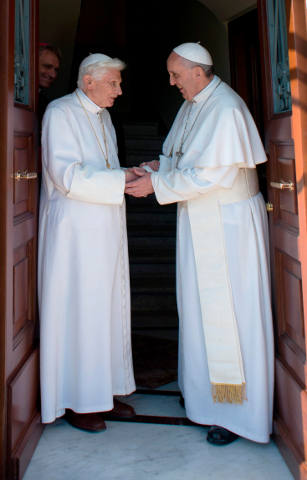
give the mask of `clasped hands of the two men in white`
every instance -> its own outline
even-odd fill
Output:
[[[139,167],[128,168],[126,174],[125,193],[133,197],[147,197],[153,193],[154,189],[151,182],[151,173],[147,172],[143,167],[147,165],[153,171],[159,170],[159,161],[143,162]]]

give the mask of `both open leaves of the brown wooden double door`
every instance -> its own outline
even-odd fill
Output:
[[[286,5],[291,108],[278,113],[274,110],[269,3],[275,20],[278,6]],[[42,431],[36,305],[37,10],[37,0],[2,0],[0,4],[0,478],[9,480],[22,478]],[[22,27],[21,17],[27,18],[27,28]],[[259,0],[258,25],[258,51],[253,49],[249,56],[256,53],[260,58],[261,80],[257,71],[250,78],[261,83],[262,108],[257,102],[255,106],[269,158],[266,193],[276,338],[274,432],[295,477],[307,479],[305,2]]]

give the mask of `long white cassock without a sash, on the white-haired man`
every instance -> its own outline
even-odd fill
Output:
[[[135,390],[125,173],[109,112],[77,92],[86,113],[76,93],[66,95],[48,106],[42,129],[38,296],[44,423],[66,408],[111,410],[113,395]],[[96,138],[105,151],[99,114],[112,169]]]

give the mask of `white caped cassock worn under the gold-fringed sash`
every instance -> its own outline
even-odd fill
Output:
[[[159,171],[152,174],[158,202],[178,202],[179,386],[187,416],[264,443],[272,429],[274,376],[267,213],[257,190],[241,198],[236,194],[242,179],[255,181],[256,164],[265,161],[245,103],[215,76],[193,102],[183,103],[164,143]],[[210,202],[219,196],[226,200],[217,201],[216,231],[206,230],[212,221]],[[200,279],[210,287],[210,257],[219,229],[246,382],[242,404],[214,402],[208,371]],[[219,259],[213,257],[213,268]],[[213,322],[214,309],[217,320],[223,303],[215,295],[208,297]]]

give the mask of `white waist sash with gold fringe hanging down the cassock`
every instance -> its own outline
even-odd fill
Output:
[[[209,376],[217,402],[242,403],[246,399],[221,205],[245,200],[258,191],[256,169],[242,168],[231,189],[220,188],[187,202]]]

